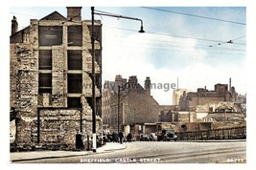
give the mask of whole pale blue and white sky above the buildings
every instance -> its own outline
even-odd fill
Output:
[[[159,104],[172,104],[175,88],[214,90],[217,83],[232,78],[239,94],[246,93],[246,8],[245,7],[96,7],[140,22],[95,15],[103,23],[103,80],[137,75],[151,89]],[[12,7],[19,30],[53,11],[66,16],[65,7]],[[82,19],[91,19],[90,7],[82,7]],[[226,43],[232,40],[233,43]]]

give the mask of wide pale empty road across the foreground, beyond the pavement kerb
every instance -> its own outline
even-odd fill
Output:
[[[107,143],[106,143],[107,144]],[[116,143],[119,144],[119,143]],[[135,141],[126,149],[26,163],[244,163],[246,142]]]

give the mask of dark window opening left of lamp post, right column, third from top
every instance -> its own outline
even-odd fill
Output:
[[[81,74],[67,74],[68,94],[81,94],[82,80]]]

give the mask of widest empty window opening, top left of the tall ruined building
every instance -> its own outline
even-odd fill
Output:
[[[39,26],[39,46],[54,46],[62,44],[61,26]]]

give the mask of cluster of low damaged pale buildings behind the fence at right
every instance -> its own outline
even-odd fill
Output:
[[[229,88],[229,90],[228,90]],[[203,121],[244,121],[245,97],[238,96],[234,87],[227,84],[216,84],[214,91],[198,88],[198,92],[174,91],[175,109],[169,111],[171,122]],[[226,117],[225,117],[226,116]]]

